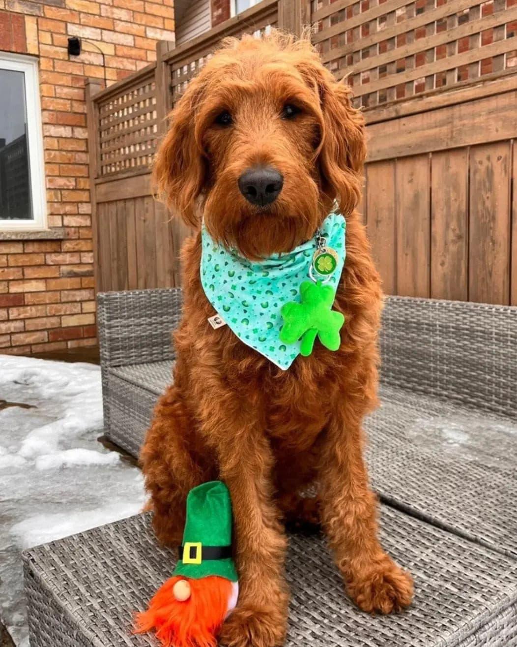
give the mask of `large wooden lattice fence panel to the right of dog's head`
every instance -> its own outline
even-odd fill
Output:
[[[517,0],[313,0],[312,20],[358,107],[517,72]]]

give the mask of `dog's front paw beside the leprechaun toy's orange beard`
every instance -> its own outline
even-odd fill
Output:
[[[225,647],[279,647],[287,630],[286,613],[280,609],[237,607],[222,626],[219,640]]]

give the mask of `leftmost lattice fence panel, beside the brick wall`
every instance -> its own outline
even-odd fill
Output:
[[[100,176],[148,168],[157,135],[152,71],[99,105]]]

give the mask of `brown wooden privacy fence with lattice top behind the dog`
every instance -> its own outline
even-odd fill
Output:
[[[99,290],[178,285],[187,233],[149,189],[165,115],[222,36],[313,42],[369,138],[362,211],[390,294],[517,304],[517,0],[263,0],[89,86]]]

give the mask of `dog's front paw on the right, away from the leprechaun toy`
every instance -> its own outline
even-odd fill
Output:
[[[385,555],[377,564],[347,578],[346,591],[363,611],[401,611],[413,599],[413,578]]]

